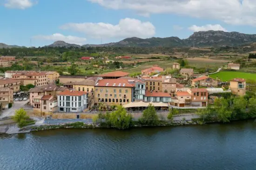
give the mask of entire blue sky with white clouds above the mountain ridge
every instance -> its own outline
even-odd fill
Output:
[[[256,0],[0,0],[0,16],[0,43],[27,47],[256,33]]]

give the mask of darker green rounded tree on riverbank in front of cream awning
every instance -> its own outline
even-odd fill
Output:
[[[157,125],[158,116],[156,114],[155,107],[152,104],[149,104],[148,108],[143,111],[141,122],[145,125]]]

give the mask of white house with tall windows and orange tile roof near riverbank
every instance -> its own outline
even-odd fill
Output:
[[[88,93],[66,89],[58,94],[58,111],[66,113],[81,113],[88,107]]]

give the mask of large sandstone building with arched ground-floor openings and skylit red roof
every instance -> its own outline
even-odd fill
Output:
[[[123,105],[135,101],[135,81],[128,79],[102,79],[95,84],[94,102],[107,106]]]

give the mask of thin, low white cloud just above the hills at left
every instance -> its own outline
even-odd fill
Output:
[[[55,33],[53,35],[37,35],[33,37],[34,39],[51,40],[51,41],[65,41],[70,44],[82,45],[85,43],[86,38],[74,37],[74,36],[64,36],[60,33]]]

